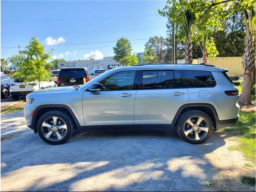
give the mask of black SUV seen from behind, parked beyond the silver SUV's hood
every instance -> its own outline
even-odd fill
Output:
[[[62,68],[57,84],[59,86],[74,86],[85,84],[92,79],[90,71],[86,67]]]

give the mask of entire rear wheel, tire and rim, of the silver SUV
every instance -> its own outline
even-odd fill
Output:
[[[177,122],[178,135],[191,144],[200,144],[212,134],[212,120],[199,110],[189,110],[181,114]]]

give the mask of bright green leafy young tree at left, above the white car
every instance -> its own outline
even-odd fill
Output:
[[[29,44],[20,54],[8,58],[12,65],[19,67],[16,78],[24,82],[40,82],[49,80],[49,72],[45,69],[49,53],[44,52],[44,46],[36,36],[32,37]]]

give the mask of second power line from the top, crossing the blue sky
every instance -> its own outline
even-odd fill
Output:
[[[147,29],[161,29],[166,27],[155,28],[141,28],[141,29],[123,29],[123,30],[108,30],[108,31],[87,31],[87,32],[60,32],[60,33],[39,33],[39,34],[1,34],[2,36],[18,36],[18,35],[56,35],[56,34],[83,34],[83,33],[99,33],[99,32],[115,32],[115,31],[135,31],[135,30],[147,30]]]

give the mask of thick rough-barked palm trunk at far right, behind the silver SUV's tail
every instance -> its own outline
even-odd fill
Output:
[[[246,46],[243,56],[244,81],[242,85],[242,93],[240,102],[251,102],[251,82],[252,72],[255,68],[255,7],[249,11],[244,10],[244,21],[246,24]]]

